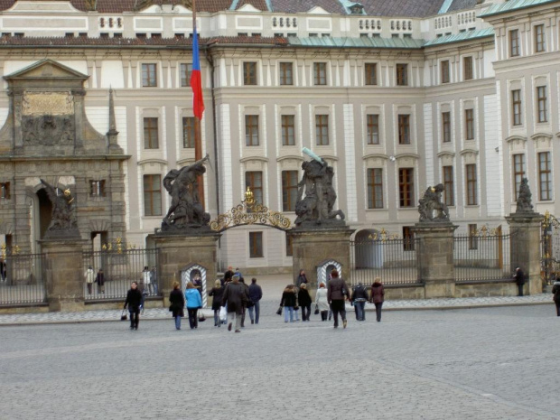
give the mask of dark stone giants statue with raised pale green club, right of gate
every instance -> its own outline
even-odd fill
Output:
[[[303,178],[297,185],[295,225],[301,226],[308,222],[315,225],[331,223],[337,216],[344,220],[342,210],[333,210],[336,191],[332,187],[334,177],[332,166],[306,147],[303,148],[303,153],[311,156],[313,160],[302,163]],[[304,197],[303,194],[305,194]]]

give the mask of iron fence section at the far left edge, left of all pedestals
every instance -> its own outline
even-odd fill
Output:
[[[17,254],[3,249],[0,262],[0,305],[45,303],[46,265],[42,254]]]

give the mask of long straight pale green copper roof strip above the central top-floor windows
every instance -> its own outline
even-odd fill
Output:
[[[290,45],[301,47],[330,48],[401,48],[418,49],[424,45],[423,40],[412,38],[331,38],[330,36],[311,36],[309,38],[288,37]]]

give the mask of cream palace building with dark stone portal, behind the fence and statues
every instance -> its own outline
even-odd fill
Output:
[[[190,1],[0,0],[0,234],[39,252],[44,178],[92,247],[150,247],[162,180],[194,162]],[[295,219],[308,147],[355,238],[411,235],[443,183],[459,232],[507,229],[527,177],[558,214],[560,1],[199,0],[212,218],[244,199]],[[60,140],[59,140],[60,139]],[[291,270],[285,232],[224,232],[220,267]]]

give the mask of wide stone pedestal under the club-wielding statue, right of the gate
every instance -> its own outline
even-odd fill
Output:
[[[305,270],[307,280],[317,286],[317,266],[323,261],[333,259],[342,266],[342,278],[349,279],[350,236],[354,229],[347,226],[331,229],[292,229],[294,279],[301,269]]]

